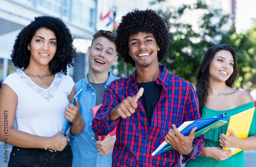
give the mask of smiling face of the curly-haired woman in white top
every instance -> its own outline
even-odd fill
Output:
[[[30,62],[37,65],[48,65],[57,50],[57,39],[52,30],[41,28],[32,37],[28,50],[30,50]]]

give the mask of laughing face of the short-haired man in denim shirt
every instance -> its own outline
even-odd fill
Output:
[[[107,38],[99,37],[87,51],[89,57],[89,71],[94,73],[106,73],[111,65],[118,59],[116,45]]]

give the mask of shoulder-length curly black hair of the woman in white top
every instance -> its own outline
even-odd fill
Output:
[[[69,28],[57,17],[35,17],[27,27],[18,34],[11,54],[12,62],[16,68],[27,68],[30,61],[28,45],[35,33],[46,28],[53,31],[57,38],[57,50],[53,59],[49,62],[52,74],[62,72],[67,74],[67,66],[74,66],[75,50]]]

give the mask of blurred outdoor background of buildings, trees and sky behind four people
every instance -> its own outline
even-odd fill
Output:
[[[239,74],[234,88],[247,91],[256,101],[255,6],[253,0],[0,0],[0,83],[19,70],[10,58],[12,47],[17,34],[36,16],[59,17],[71,30],[77,57],[68,74],[77,82],[88,73],[86,52],[92,35],[101,29],[116,32],[127,12],[151,8],[164,18],[170,32],[169,56],[162,62],[169,73],[195,84],[206,50],[213,44],[226,43],[237,52]],[[126,77],[134,68],[119,57],[110,70]],[[4,157],[2,144],[0,155]],[[256,155],[255,150],[246,153],[245,158]],[[253,158],[246,160],[250,161],[256,162]],[[1,157],[0,166],[7,166],[3,162]]]

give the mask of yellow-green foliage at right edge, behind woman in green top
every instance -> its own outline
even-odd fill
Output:
[[[246,32],[233,28],[222,38],[222,43],[233,47],[237,53],[238,78],[235,87],[255,87],[256,80],[256,24]]]

